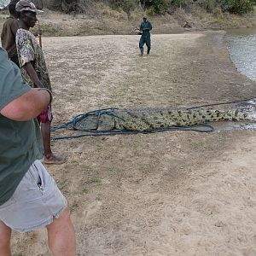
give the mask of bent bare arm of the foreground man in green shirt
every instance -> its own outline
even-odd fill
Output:
[[[47,108],[50,99],[48,90],[32,88],[0,109],[0,113],[8,119],[27,121],[36,118],[44,108]]]

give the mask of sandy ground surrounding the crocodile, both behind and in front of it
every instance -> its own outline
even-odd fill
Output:
[[[99,108],[189,107],[256,95],[224,32],[43,38],[53,125]],[[53,136],[79,134],[58,131]],[[77,255],[256,255],[255,131],[168,131],[54,141]],[[50,255],[46,231],[14,233],[14,255]]]

